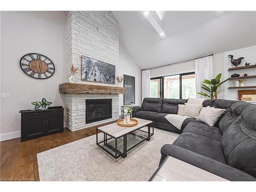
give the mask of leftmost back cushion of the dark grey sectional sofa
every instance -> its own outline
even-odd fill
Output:
[[[161,112],[162,98],[144,98],[141,104],[143,111]]]

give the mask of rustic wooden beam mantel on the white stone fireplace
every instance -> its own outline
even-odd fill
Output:
[[[59,84],[59,93],[124,94],[125,88],[65,82]]]

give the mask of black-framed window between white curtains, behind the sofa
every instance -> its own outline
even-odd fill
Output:
[[[196,98],[195,73],[151,78],[150,96],[172,99]]]

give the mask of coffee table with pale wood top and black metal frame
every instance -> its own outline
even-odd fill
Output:
[[[112,123],[96,129],[96,144],[115,159],[127,157],[127,152],[144,141],[150,141],[154,135],[153,121],[133,118],[138,124],[131,127]]]

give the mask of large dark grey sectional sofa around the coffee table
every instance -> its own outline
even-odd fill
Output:
[[[204,106],[225,109],[214,126],[187,119],[178,130],[164,116],[178,113],[186,99],[145,98],[135,117],[154,121],[160,129],[181,133],[161,148],[160,164],[172,156],[230,181],[256,181],[256,105],[207,99]]]

